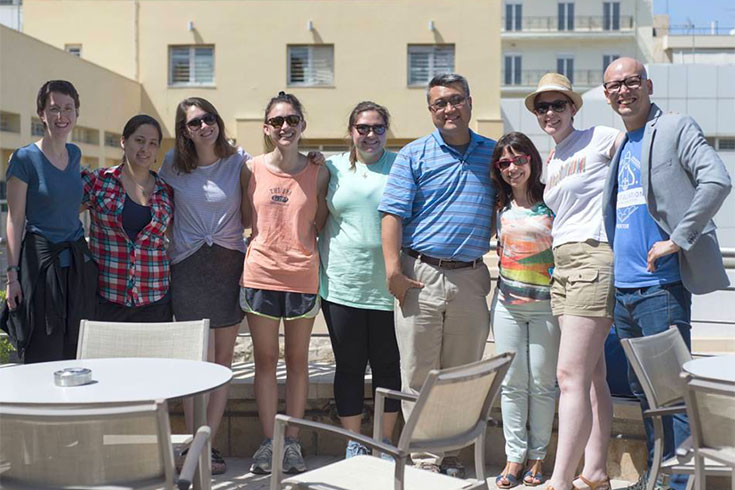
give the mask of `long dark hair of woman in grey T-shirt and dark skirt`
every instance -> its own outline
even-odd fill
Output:
[[[226,158],[230,155],[235,154],[237,151],[234,146],[227,141],[225,134],[225,122],[220,117],[217,109],[214,108],[211,102],[201,97],[189,97],[179,102],[176,107],[176,123],[175,123],[175,134],[176,134],[176,146],[174,147],[174,161],[173,166],[178,172],[190,173],[197,167],[198,157],[194,142],[188,136],[188,130],[186,129],[186,111],[191,106],[196,106],[212,114],[217,120],[217,126],[219,126],[219,135],[217,141],[214,142],[214,154],[220,158]]]

